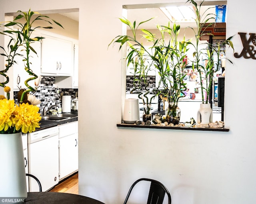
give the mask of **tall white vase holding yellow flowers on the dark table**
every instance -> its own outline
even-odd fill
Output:
[[[0,134],[0,197],[27,197],[21,133]]]

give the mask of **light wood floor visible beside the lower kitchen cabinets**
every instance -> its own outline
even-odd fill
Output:
[[[52,188],[50,192],[78,194],[78,173]]]

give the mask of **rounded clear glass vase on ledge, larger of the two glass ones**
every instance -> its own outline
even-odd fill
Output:
[[[169,103],[165,112],[168,124],[178,125],[180,123],[180,108],[177,103]]]

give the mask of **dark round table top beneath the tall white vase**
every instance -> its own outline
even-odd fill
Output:
[[[104,204],[86,196],[59,192],[28,192],[26,204]]]

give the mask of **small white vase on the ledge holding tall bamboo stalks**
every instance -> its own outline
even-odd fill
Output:
[[[197,112],[197,124],[208,125],[212,122],[212,108],[211,104],[200,104]]]

